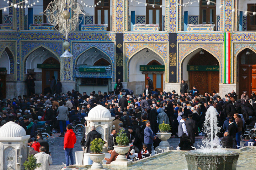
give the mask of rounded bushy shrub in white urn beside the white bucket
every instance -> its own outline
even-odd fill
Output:
[[[105,157],[105,153],[102,153],[102,148],[104,146],[104,141],[101,138],[95,138],[91,141],[91,153],[89,153],[90,159],[93,161],[91,170],[103,169],[101,161]]]

